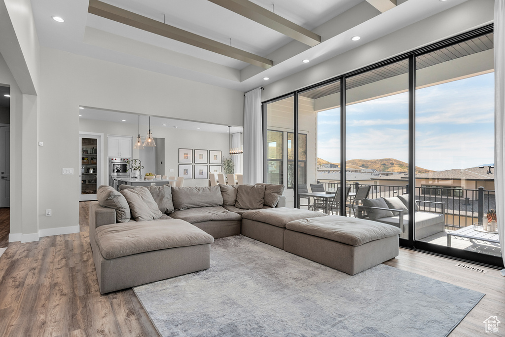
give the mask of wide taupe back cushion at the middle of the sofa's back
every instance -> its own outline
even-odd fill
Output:
[[[219,186],[172,187],[172,202],[176,210],[223,205]]]

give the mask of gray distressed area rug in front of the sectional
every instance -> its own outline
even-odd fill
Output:
[[[238,235],[134,288],[162,336],[446,336],[484,294],[386,265],[354,276]]]

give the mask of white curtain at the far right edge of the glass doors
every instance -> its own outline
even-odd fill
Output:
[[[501,256],[505,263],[505,0],[494,1],[494,190]],[[505,269],[501,271],[505,276]]]

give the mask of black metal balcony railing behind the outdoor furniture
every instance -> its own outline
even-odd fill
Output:
[[[327,191],[334,191],[340,187],[340,183],[336,182],[318,180],[318,183],[322,183]],[[347,183],[346,186],[351,187],[351,192],[356,192],[359,186],[370,186],[368,198],[371,199],[391,198],[409,193],[409,185],[374,185],[356,182]],[[494,190],[486,190],[483,187],[455,189],[422,186],[415,188],[415,196],[421,211],[440,212],[440,206],[430,204],[428,201],[444,204],[445,227],[447,229],[458,229],[470,226],[474,222],[480,222],[488,209],[495,209]]]

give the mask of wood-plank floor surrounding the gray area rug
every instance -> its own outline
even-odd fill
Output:
[[[88,204],[79,203],[80,233],[10,243],[0,257],[0,336],[158,335],[131,289],[98,292]],[[451,336],[486,335],[483,321],[491,315],[498,316],[503,324],[499,335],[505,335],[505,277],[492,269],[486,274],[464,270],[456,263],[404,249],[386,262],[486,294]]]

